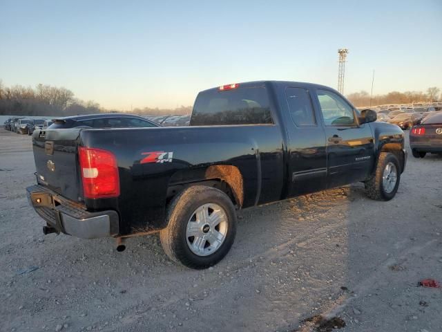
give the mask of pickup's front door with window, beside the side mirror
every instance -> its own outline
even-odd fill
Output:
[[[327,187],[361,181],[374,165],[374,140],[369,124],[358,123],[358,113],[338,93],[316,89],[327,142]]]

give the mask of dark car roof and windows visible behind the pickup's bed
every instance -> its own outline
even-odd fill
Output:
[[[68,116],[52,120],[49,129],[90,128],[146,128],[160,127],[160,124],[131,114],[102,113],[88,116]]]

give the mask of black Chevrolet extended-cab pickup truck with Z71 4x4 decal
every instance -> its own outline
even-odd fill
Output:
[[[236,234],[236,210],[362,181],[388,201],[403,131],[327,86],[247,82],[202,91],[189,127],[46,129],[32,135],[30,203],[45,234],[122,240],[160,232],[171,259],[206,268]]]

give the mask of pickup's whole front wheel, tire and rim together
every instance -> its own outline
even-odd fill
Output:
[[[381,152],[374,174],[365,181],[365,190],[370,199],[390,201],[396,195],[401,180],[398,158],[390,152]]]

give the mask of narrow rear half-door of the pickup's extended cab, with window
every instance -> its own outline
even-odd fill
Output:
[[[282,109],[287,129],[289,156],[288,196],[326,187],[325,131],[318,122],[310,92],[300,86],[285,89]]]

